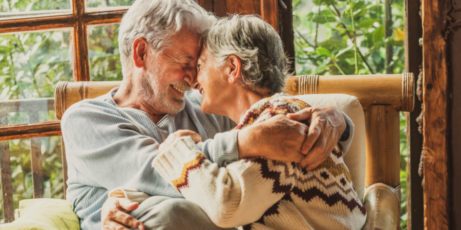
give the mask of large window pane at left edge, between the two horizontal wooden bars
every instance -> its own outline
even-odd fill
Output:
[[[56,120],[54,88],[72,80],[70,29],[0,35],[0,126]]]

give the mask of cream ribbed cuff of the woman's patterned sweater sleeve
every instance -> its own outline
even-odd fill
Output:
[[[154,158],[152,167],[166,181],[173,182],[173,186],[178,189],[173,180],[184,177],[184,169],[195,168],[198,164],[203,163],[204,159],[206,159],[205,155],[195,146],[192,138],[190,136],[182,136]]]

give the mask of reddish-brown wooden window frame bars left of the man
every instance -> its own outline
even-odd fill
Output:
[[[72,28],[71,41],[74,81],[90,81],[87,27],[90,25],[107,25],[120,22],[123,14],[127,12],[130,6],[86,9],[85,2],[86,0],[71,0],[71,14],[37,15],[35,17],[0,20],[0,34]],[[28,100],[46,100],[49,105],[54,105],[53,99],[8,100],[2,102],[2,105],[8,104],[9,107],[17,108],[20,103]],[[54,108],[49,110],[54,110]],[[40,122],[28,125],[0,125],[0,141],[61,135],[59,124],[60,121]]]

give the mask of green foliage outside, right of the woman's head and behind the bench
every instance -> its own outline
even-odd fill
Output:
[[[298,75],[390,74],[405,70],[404,1],[392,1],[391,36],[386,37],[384,0],[294,0]],[[386,46],[392,59],[386,59]],[[401,229],[407,229],[407,135],[401,113]]]

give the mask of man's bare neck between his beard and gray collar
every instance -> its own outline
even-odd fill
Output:
[[[159,122],[165,117],[166,114],[162,114],[157,111],[152,105],[142,100],[138,90],[133,90],[137,87],[133,84],[133,81],[125,79],[120,87],[117,89],[117,93],[112,97],[118,107],[122,108],[134,108],[146,112],[152,118],[154,123]]]

